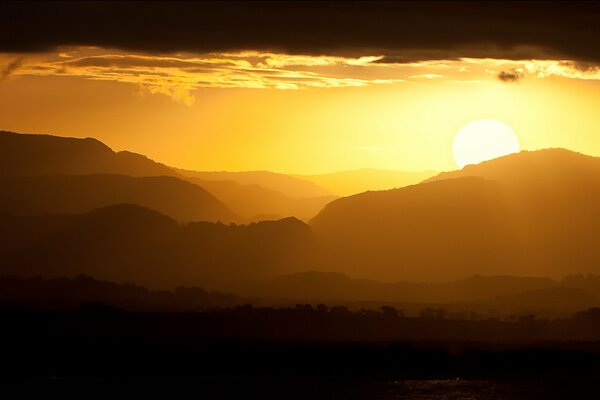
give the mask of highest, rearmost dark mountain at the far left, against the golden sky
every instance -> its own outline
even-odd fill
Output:
[[[92,139],[0,131],[0,177],[122,174],[176,176],[173,169]]]

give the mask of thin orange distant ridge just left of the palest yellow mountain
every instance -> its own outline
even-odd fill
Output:
[[[234,181],[241,185],[260,185],[265,189],[274,190],[288,197],[323,197],[332,196],[334,193],[317,184],[290,175],[278,174],[269,171],[189,171],[176,169],[185,177],[198,178],[205,181]]]

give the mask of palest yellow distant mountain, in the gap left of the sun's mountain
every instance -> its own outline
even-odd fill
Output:
[[[357,169],[321,175],[298,175],[327,190],[349,196],[369,190],[388,190],[414,185],[434,176],[433,171],[404,172],[382,169]]]

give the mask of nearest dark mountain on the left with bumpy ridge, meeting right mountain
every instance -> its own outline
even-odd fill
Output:
[[[314,243],[294,218],[180,224],[136,205],[85,214],[0,214],[0,275],[80,274],[150,288],[224,289],[311,268]]]

